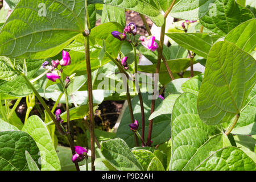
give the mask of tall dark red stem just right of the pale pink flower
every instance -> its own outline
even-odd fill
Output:
[[[156,70],[155,70],[156,74],[159,74],[159,72],[160,72],[161,59],[162,59],[162,55],[163,55],[164,31],[165,31],[165,29],[166,29],[166,19],[164,19],[164,24],[161,27],[161,34],[160,34],[160,41],[159,41],[159,48],[158,48],[158,61],[156,63]],[[154,90],[155,90],[155,88],[154,88]],[[156,98],[152,99],[150,114],[152,114],[155,110],[155,100],[156,100]],[[150,120],[150,123],[149,123],[149,126],[148,126],[147,146],[151,145],[152,126],[153,126],[153,119]]]

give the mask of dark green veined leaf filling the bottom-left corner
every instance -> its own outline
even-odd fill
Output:
[[[40,168],[39,149],[30,135],[22,131],[0,132],[0,170],[29,171],[25,151],[28,151]]]

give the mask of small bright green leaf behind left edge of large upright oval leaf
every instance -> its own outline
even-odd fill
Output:
[[[199,93],[201,83],[203,81],[203,77],[203,73],[192,77],[191,79],[189,79],[181,85],[181,89],[183,90],[183,92],[191,92],[197,96]]]

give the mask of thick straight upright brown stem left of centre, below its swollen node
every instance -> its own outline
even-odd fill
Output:
[[[90,69],[90,41],[89,35],[84,37],[85,47],[85,60],[86,60],[86,72],[87,72],[87,88],[88,88],[88,100],[89,100],[89,114],[90,114],[90,150],[92,151],[92,171],[95,171],[95,146],[94,146],[94,112],[93,112],[93,93],[92,93],[92,71]]]

